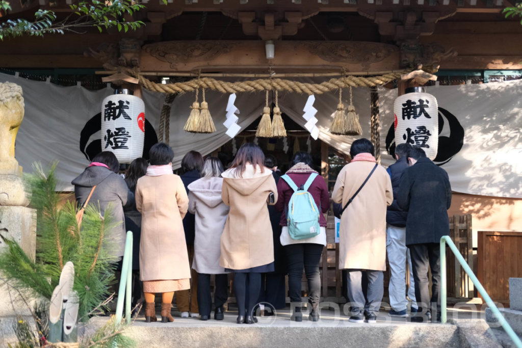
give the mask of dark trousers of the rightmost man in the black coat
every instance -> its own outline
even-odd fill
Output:
[[[432,314],[433,319],[436,310],[437,318],[441,313],[441,301],[439,292],[441,287],[441,249],[438,243],[411,244],[411,268],[415,280],[415,297],[419,309],[426,308]],[[431,298],[430,282],[428,280],[428,267],[431,269]],[[433,308],[432,308],[433,307]]]

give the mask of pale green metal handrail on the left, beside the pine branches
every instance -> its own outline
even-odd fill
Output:
[[[127,231],[120,289],[118,289],[118,301],[116,302],[116,325],[122,322],[123,298],[125,298],[125,319],[127,323],[131,323],[132,240],[132,232]]]

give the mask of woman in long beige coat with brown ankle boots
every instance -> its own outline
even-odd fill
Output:
[[[141,212],[140,278],[145,293],[145,321],[156,321],[154,297],[162,293],[161,322],[174,321],[170,310],[174,291],[190,288],[191,270],[183,232],[188,197],[181,178],[172,173],[174,152],[165,143],[149,151],[147,174],[136,185]]]

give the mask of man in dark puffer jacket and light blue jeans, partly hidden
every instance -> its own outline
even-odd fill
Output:
[[[415,299],[415,282],[411,269],[410,251],[406,247],[406,218],[407,211],[397,205],[397,194],[402,173],[408,168],[408,154],[411,145],[402,143],[395,148],[397,162],[390,165],[386,170],[392,179],[394,200],[386,211],[386,253],[390,265],[390,282],[388,293],[390,306],[390,317],[406,318],[408,316],[408,299],[406,298],[406,262],[410,270],[410,286],[408,297],[412,301],[411,312],[417,313],[417,301]]]

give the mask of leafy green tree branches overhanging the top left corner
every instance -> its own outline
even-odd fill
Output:
[[[163,0],[167,4],[167,0]],[[65,31],[78,32],[85,28],[96,27],[100,32],[103,28],[117,28],[127,32],[145,25],[143,21],[127,21],[125,15],[132,16],[145,6],[131,0],[80,1],[77,5],[69,5],[72,13],[65,19],[56,21],[56,14],[51,10],[39,9],[34,14],[34,20],[8,19],[0,23],[0,40],[15,38],[21,35],[40,36],[44,34],[63,34]],[[11,9],[9,2],[0,0],[0,10],[5,13]]]

